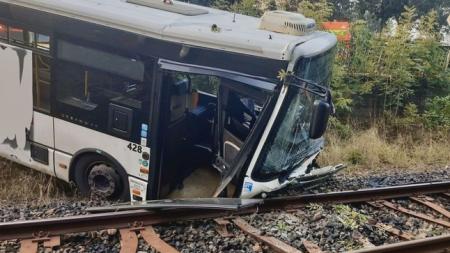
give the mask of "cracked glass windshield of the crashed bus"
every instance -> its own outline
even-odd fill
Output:
[[[295,72],[285,79],[288,86],[277,120],[263,146],[252,178],[260,182],[287,178],[312,155],[324,140],[309,138],[310,120],[316,100],[330,101],[330,79],[334,50],[300,58]]]

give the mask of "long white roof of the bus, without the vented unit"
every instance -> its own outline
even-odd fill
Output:
[[[259,29],[258,18],[177,1],[173,2],[177,9],[175,11],[170,10],[170,7],[169,10],[157,9],[130,3],[127,0],[0,0],[0,2],[152,38],[277,60],[290,60],[291,51],[296,45],[324,34],[313,32],[306,36],[293,36],[265,31]]]

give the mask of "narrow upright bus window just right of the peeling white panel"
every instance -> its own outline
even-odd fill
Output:
[[[50,112],[51,62],[47,56],[33,54],[33,105]]]

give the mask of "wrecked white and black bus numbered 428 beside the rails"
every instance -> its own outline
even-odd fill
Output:
[[[312,182],[336,37],[301,14],[0,0],[0,155],[113,200]]]

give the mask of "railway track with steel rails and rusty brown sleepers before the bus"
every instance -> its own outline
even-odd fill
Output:
[[[442,197],[450,199],[449,191],[450,181],[443,181],[357,191],[271,198],[256,201],[254,205],[245,206],[238,210],[224,210],[220,207],[215,209],[169,208],[158,210],[143,210],[141,206],[95,208],[92,211],[99,213],[0,223],[0,241],[20,240],[20,252],[34,253],[38,251],[38,248],[54,248],[59,246],[61,244],[61,235],[117,229],[120,233],[121,252],[123,253],[136,252],[139,237],[159,252],[178,252],[173,246],[160,239],[152,226],[174,221],[214,219],[217,232],[223,237],[233,236],[233,233],[228,230],[230,226],[233,226],[257,242],[267,245],[273,252],[301,252],[299,249],[289,245],[288,242],[264,235],[258,228],[253,227],[242,219],[241,216],[276,210],[289,212],[304,208],[313,203],[330,205],[364,203],[373,208],[402,213],[450,229],[449,210],[430,197],[431,194],[440,194]],[[411,210],[391,201],[393,199],[405,198],[418,205],[422,205],[429,212],[423,213]],[[439,217],[431,213],[437,213]],[[387,233],[398,237],[403,242],[380,247],[370,247],[355,252],[449,252],[450,250],[450,235],[416,240],[415,236],[407,231],[392,228],[381,222],[377,222],[375,225]],[[302,246],[306,252],[322,252],[313,242],[303,241]]]

